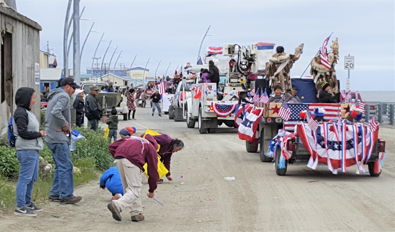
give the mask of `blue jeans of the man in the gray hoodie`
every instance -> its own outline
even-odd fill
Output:
[[[74,174],[73,163],[71,163],[69,146],[66,143],[47,143],[52,151],[55,162],[55,172],[50,196],[59,196],[60,199],[73,198]]]

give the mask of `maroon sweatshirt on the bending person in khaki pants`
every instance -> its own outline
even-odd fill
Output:
[[[121,138],[113,142],[109,147],[111,155],[115,159],[126,158],[130,163],[139,167],[143,172],[143,166],[147,163],[149,192],[153,193],[158,187],[158,143],[152,135],[146,135],[145,139],[136,136]]]

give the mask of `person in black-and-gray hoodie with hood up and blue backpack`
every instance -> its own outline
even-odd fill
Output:
[[[38,178],[38,152],[43,150],[44,131],[40,131],[40,123],[32,113],[36,93],[34,89],[22,87],[15,94],[15,104],[17,109],[13,116],[13,129],[15,135],[15,148],[17,158],[21,164],[19,168],[19,178],[17,182],[16,215],[36,217],[35,212],[42,211],[32,202],[33,184]]]

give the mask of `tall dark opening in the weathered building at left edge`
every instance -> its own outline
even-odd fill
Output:
[[[6,32],[1,45],[1,102],[12,102],[12,34]],[[34,71],[34,70],[33,70]]]

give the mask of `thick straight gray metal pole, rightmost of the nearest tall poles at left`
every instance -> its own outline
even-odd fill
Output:
[[[79,49],[79,2],[80,0],[74,0],[73,5],[73,78],[77,84],[81,82],[81,56]]]

